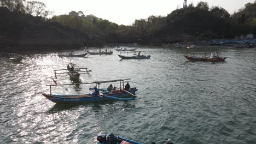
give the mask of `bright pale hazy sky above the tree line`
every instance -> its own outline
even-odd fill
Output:
[[[83,11],[85,15],[95,15],[119,25],[131,25],[135,19],[145,19],[150,15],[166,16],[177,7],[183,7],[183,0],[39,0],[46,4],[55,15],[68,14],[70,11]],[[199,0],[188,0],[196,5]],[[245,7],[254,0],[205,0],[210,7],[219,5],[230,14]]]

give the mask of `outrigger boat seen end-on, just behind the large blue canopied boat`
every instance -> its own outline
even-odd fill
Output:
[[[82,69],[85,69],[85,70],[83,71]],[[67,66],[67,69],[54,70],[54,74],[55,74],[55,77],[57,77],[57,74],[68,74],[71,77],[71,79],[79,79],[80,74],[89,74],[91,70],[87,70],[87,69],[88,68],[79,68],[76,64],[69,63]],[[63,71],[63,70],[68,70],[68,72],[60,72],[60,73],[56,72],[56,71]]]

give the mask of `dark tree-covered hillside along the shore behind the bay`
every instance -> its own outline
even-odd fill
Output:
[[[59,15],[38,1],[0,1],[0,46],[48,46],[103,43],[176,43],[177,41],[234,38],[256,34],[256,3],[230,15],[207,2],[173,10],[167,16],[149,16],[131,26],[117,25],[94,15]]]

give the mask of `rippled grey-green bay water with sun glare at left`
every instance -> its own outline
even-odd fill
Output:
[[[187,61],[183,49],[138,50],[152,57],[120,61],[114,52],[72,59],[92,70],[80,82],[131,78],[138,88],[134,101],[57,105],[36,94],[49,93],[53,70],[69,63],[57,52],[0,62],[0,143],[96,143],[101,132],[143,143],[256,143],[256,49],[216,48],[228,57],[218,63]],[[57,83],[74,81],[62,74]],[[92,86],[55,87],[53,93],[83,94]]]

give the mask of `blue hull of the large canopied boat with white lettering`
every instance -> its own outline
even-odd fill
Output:
[[[130,93],[135,94],[135,92],[138,91],[137,88],[131,88],[129,90]],[[113,94],[108,94],[108,92],[103,92],[104,95],[115,97],[115,98],[127,98],[131,97],[132,95],[121,91]],[[109,98],[104,98],[100,96],[92,96],[91,94],[82,94],[82,95],[50,95],[42,93],[42,95],[49,99],[50,101],[53,101],[56,104],[70,104],[70,103],[90,103],[94,101],[107,101],[111,100]]]

